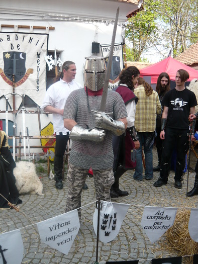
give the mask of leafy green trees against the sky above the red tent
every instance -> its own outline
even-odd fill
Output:
[[[173,57],[198,41],[198,9],[194,0],[145,0],[144,10],[126,24],[127,60],[156,50]]]

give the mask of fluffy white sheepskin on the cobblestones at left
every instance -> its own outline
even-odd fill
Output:
[[[36,174],[34,163],[28,161],[16,162],[14,168],[16,186],[20,194],[38,194],[42,195],[43,184]]]

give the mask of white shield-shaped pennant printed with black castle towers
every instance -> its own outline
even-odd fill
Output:
[[[119,233],[121,224],[128,211],[129,204],[118,204],[106,201],[101,201],[102,208],[100,210],[100,231],[99,239],[102,242],[112,241]],[[93,229],[97,235],[97,214],[98,210],[95,208],[93,214]]]

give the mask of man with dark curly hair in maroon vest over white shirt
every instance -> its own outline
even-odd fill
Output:
[[[134,126],[138,98],[133,93],[134,85],[138,82],[139,76],[140,71],[135,66],[123,69],[119,75],[119,86],[114,90],[121,95],[125,102],[128,114],[128,125],[125,134],[119,137],[113,137],[113,171],[115,182],[111,188],[111,198],[129,195],[127,191],[119,189],[119,179],[125,171],[134,169],[136,166],[136,160],[131,159],[131,151],[135,151],[135,149],[138,149],[140,146]]]

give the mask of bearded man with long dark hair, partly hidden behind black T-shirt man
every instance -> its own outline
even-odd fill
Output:
[[[161,72],[157,79],[157,85],[156,85],[156,92],[158,93],[160,103],[162,102],[163,97],[168,91],[170,91],[170,77],[168,73]],[[162,106],[162,112],[163,112],[163,106]],[[156,167],[153,167],[153,171],[160,170],[161,153],[162,153],[162,140],[160,138],[160,132],[161,132],[161,114],[158,114],[156,119],[156,133],[157,133],[156,147],[157,147],[157,155],[158,155],[158,164]]]

